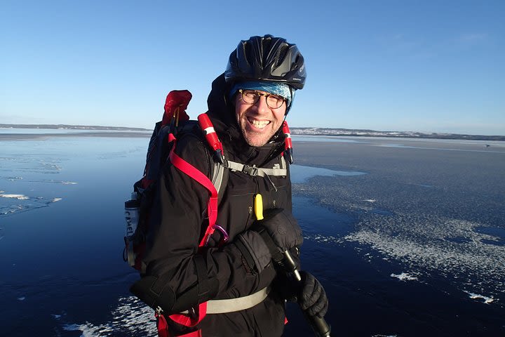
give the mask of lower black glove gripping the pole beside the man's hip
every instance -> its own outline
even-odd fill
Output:
[[[299,291],[298,304],[309,316],[324,317],[328,311],[328,298],[321,283],[308,272],[300,272],[302,289]]]

